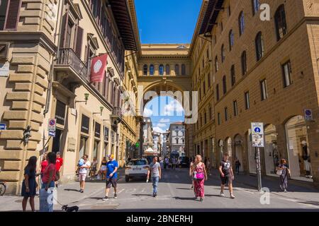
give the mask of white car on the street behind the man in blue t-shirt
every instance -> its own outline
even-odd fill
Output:
[[[147,172],[150,165],[147,163],[147,159],[133,159],[128,162],[125,167],[125,182],[129,182],[130,178],[143,178],[147,179]]]

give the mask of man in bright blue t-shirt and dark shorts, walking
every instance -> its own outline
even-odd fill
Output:
[[[103,198],[103,201],[108,200],[108,192],[111,189],[111,186],[114,188],[114,198],[116,196],[116,184],[118,181],[118,162],[114,160],[114,155],[108,155],[108,163],[106,163],[106,196]]]

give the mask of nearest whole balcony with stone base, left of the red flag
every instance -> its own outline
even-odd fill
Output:
[[[77,57],[73,49],[60,49],[57,63],[57,71],[67,72],[70,81],[89,82],[89,73],[86,64]]]

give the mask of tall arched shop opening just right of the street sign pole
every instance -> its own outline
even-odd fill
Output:
[[[276,126],[269,124],[264,129],[264,167],[266,175],[276,175],[276,167],[279,164],[279,151],[277,149],[277,130]]]

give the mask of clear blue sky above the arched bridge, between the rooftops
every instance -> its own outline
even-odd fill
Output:
[[[202,0],[135,0],[142,44],[190,43]]]

